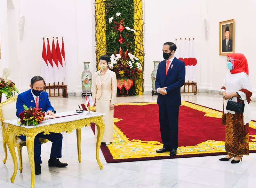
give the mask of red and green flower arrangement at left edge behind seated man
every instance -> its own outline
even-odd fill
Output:
[[[4,93],[6,98],[10,98],[15,95],[16,92],[19,94],[18,89],[15,87],[15,83],[11,80],[6,82],[3,78],[0,78],[0,96]]]

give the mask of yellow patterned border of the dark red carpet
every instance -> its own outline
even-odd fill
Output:
[[[149,105],[156,104],[156,102],[145,103],[117,103],[119,105]],[[221,118],[222,113],[204,106],[182,101],[183,106],[205,112],[205,116]],[[144,157],[159,157],[168,156],[169,153],[156,153],[156,150],[161,148],[163,144],[158,141],[141,141],[141,140],[129,140],[125,134],[116,126],[116,122],[122,121],[122,119],[114,118],[114,143],[108,145],[108,149],[113,159],[131,159],[131,158],[144,158]],[[251,121],[249,126],[256,129],[256,122]],[[251,135],[256,141],[256,135]],[[256,143],[250,142],[250,150],[256,150]],[[188,154],[204,154],[204,153],[220,153],[225,152],[225,142],[206,140],[194,146],[179,147],[177,149],[177,155]]]

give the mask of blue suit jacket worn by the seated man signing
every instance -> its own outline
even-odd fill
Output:
[[[42,108],[42,112],[47,112],[48,110],[52,110],[53,112],[54,109],[51,105],[51,102],[49,100],[49,96],[48,96],[48,93],[43,91],[41,93],[41,95],[39,95],[39,108]],[[17,98],[17,102],[16,102],[16,115],[17,117],[19,117],[19,114],[24,110],[24,107],[23,105],[26,105],[28,108],[31,106],[32,108],[36,107],[36,102],[35,102],[35,99],[31,93],[31,89],[23,92],[23,93],[20,93],[18,95],[18,98]],[[56,113],[56,112],[55,112]]]

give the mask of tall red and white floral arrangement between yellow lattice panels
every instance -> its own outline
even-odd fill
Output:
[[[108,18],[107,26],[110,33],[107,36],[112,39],[113,43],[118,44],[115,45],[115,47],[118,46],[115,50],[109,47],[109,49],[113,51],[110,56],[109,68],[116,73],[117,80],[130,79],[132,80],[132,82],[130,82],[131,87],[135,85],[133,86],[135,88],[138,78],[143,73],[139,58],[132,54],[135,49],[134,38],[136,30],[129,27],[131,25],[133,25],[133,23],[127,24],[120,12]],[[109,46],[111,46],[111,44]],[[119,50],[118,53],[117,50]],[[122,87],[120,86],[118,88],[120,89]]]

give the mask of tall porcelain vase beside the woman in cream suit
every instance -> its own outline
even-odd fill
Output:
[[[91,93],[92,73],[89,70],[90,62],[84,61],[83,63],[84,63],[84,71],[82,72],[82,90],[83,90],[83,93]]]

